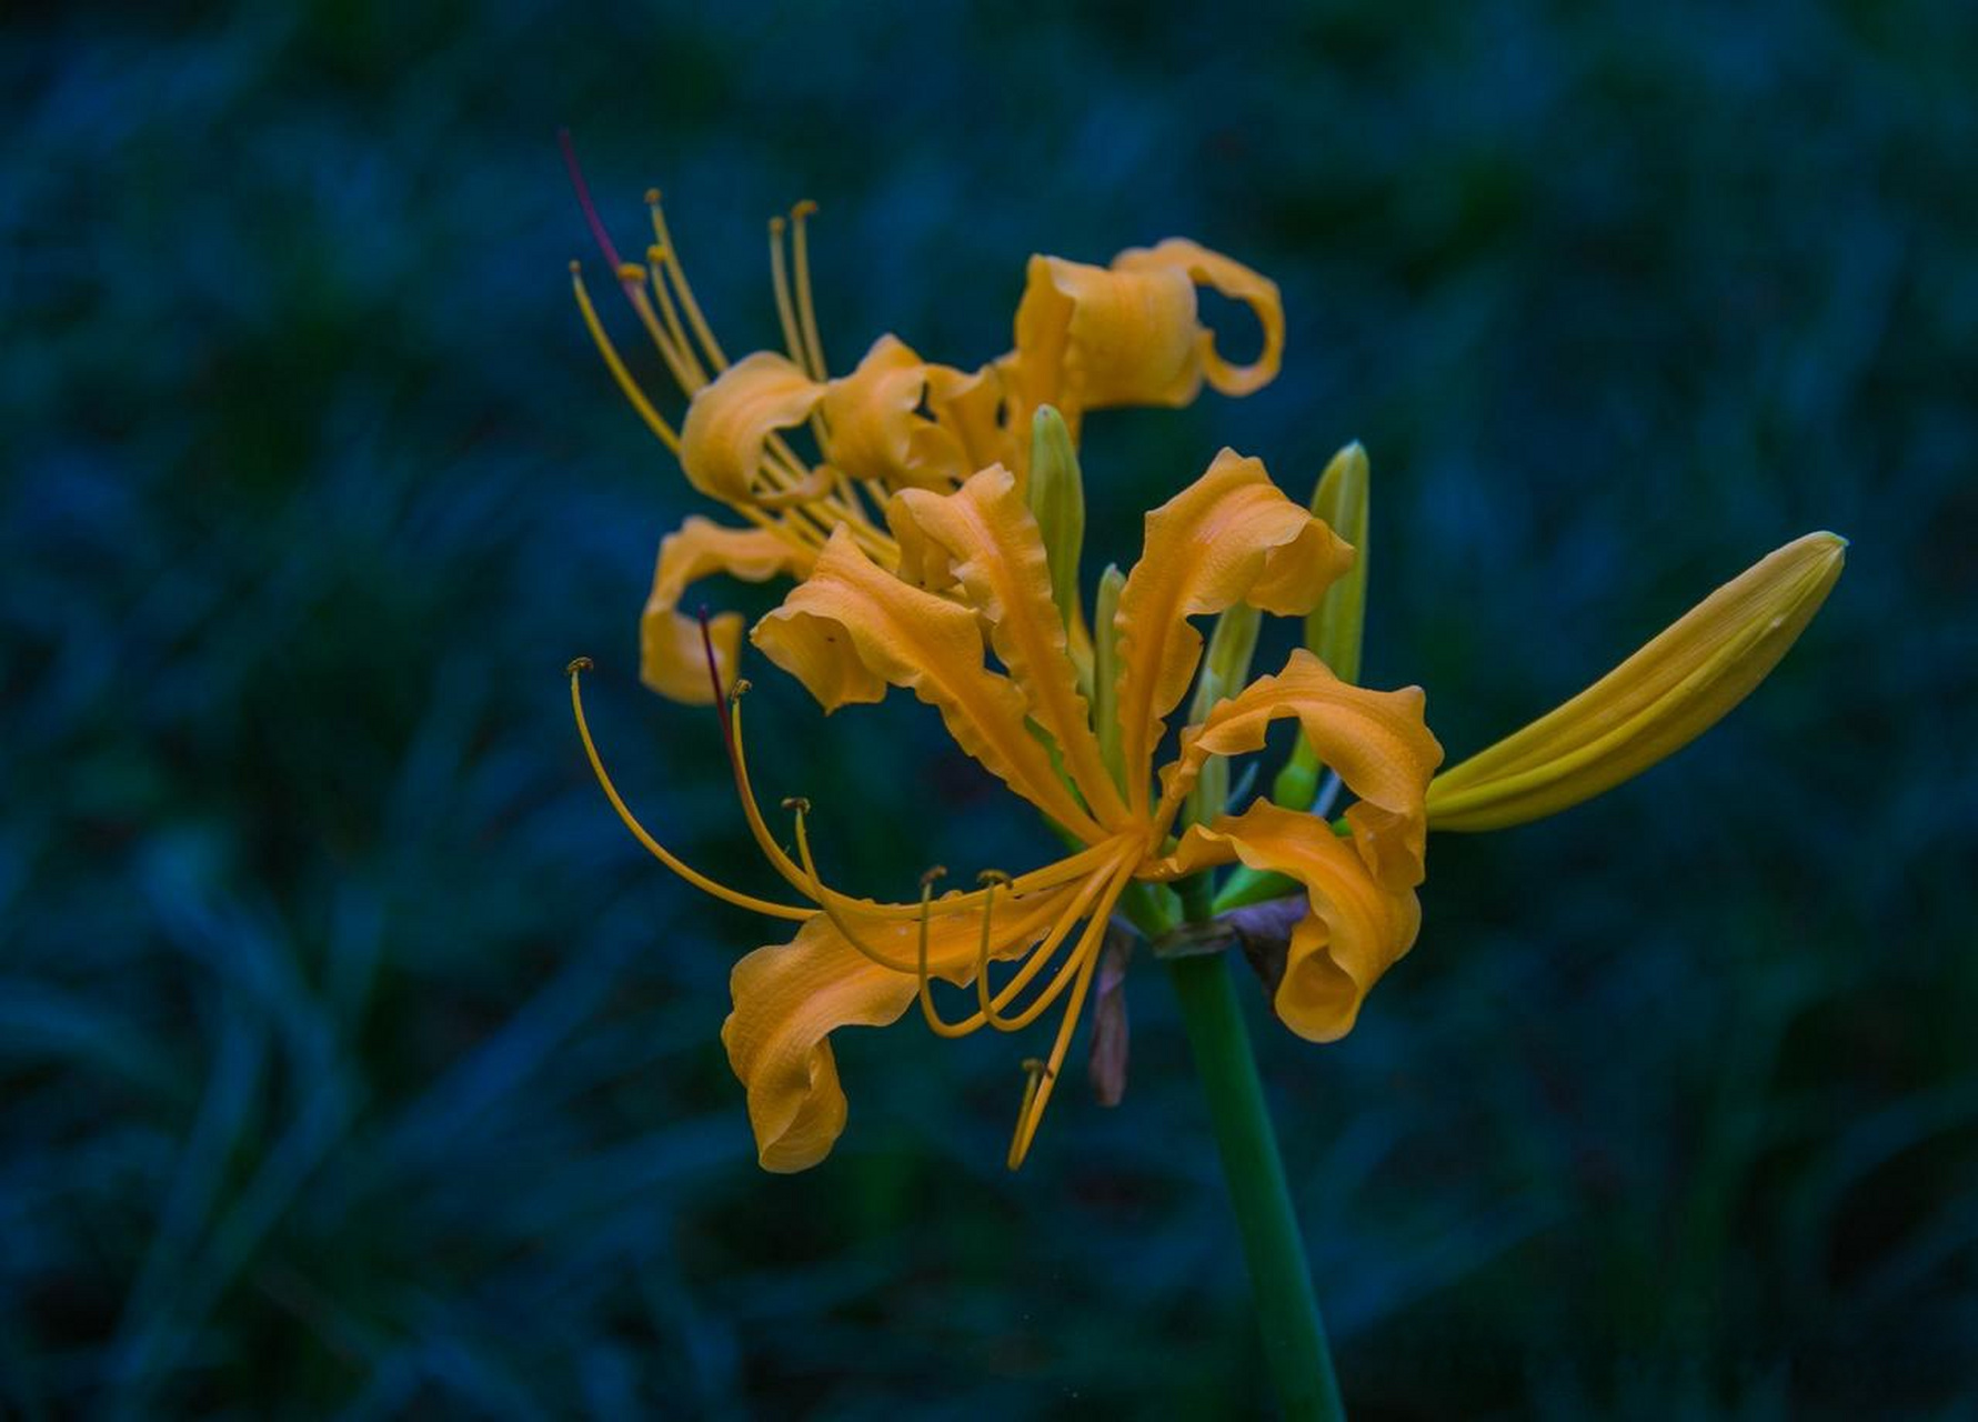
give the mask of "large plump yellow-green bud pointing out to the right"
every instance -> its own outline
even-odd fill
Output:
[[[1578,696],[1442,771],[1430,829],[1505,829],[1640,775],[1715,726],[1778,665],[1842,576],[1847,540],[1766,554]]]

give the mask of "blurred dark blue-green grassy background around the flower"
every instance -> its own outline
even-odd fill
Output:
[[[1968,1414],[1974,73],[1950,0],[10,12],[0,1412],[1270,1408],[1147,961],[1125,1104],[1023,1175],[1034,1044],[912,1019],[839,1038],[823,1169],[756,1169],[716,1032],[775,926],[641,856],[560,674],[764,886],[635,680],[694,502],[572,309],[568,123],[732,350],[805,196],[837,366],[1001,352],[1031,251],[1274,275],[1276,386],[1092,421],[1088,576],[1218,445],[1304,496],[1359,437],[1369,680],[1452,754],[1847,534],[1711,738],[1434,843],[1351,1038],[1254,1026],[1359,1416]],[[1050,852],[924,708],[756,680],[841,882]]]

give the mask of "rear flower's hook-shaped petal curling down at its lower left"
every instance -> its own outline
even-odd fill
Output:
[[[659,544],[653,591],[639,615],[639,678],[671,700],[692,706],[710,702],[714,688],[700,645],[700,623],[676,611],[688,583],[710,574],[760,583],[777,574],[801,576],[809,564],[803,548],[767,528],[722,528],[698,514],[682,522]],[[708,637],[722,684],[728,684],[742,649],[742,613],[712,617]]]

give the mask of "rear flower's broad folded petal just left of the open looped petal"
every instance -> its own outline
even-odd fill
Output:
[[[1058,405],[1074,427],[1084,409],[1185,405],[1203,384],[1199,334],[1195,283],[1177,267],[1031,257],[1015,372],[1031,407]]]

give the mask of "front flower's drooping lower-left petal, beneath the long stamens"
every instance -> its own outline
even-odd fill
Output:
[[[1082,882],[1034,894],[1003,894],[991,918],[991,959],[1031,949]],[[959,896],[949,896],[949,900]],[[864,912],[864,910],[878,912]],[[841,906],[854,933],[880,953],[914,961],[920,918],[906,906]],[[955,985],[975,979],[981,910],[936,900],[928,920],[928,971]],[[734,1011],[722,1024],[728,1064],[748,1090],[756,1153],[765,1171],[803,1171],[829,1155],[845,1129],[831,1032],[884,1026],[914,1003],[918,979],[864,957],[825,918],[789,943],[758,947],[730,975]]]

